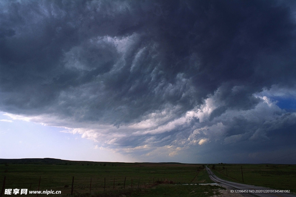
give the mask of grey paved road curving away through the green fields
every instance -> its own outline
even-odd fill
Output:
[[[221,178],[218,178],[216,175],[214,175],[214,173],[208,168],[207,169],[207,173],[210,176],[210,179],[212,179],[213,181],[215,181],[216,183],[218,183],[219,185],[221,185],[224,188],[227,188],[229,190],[268,190],[269,188],[263,188],[263,187],[258,187],[258,186],[253,186],[253,185],[246,185],[246,184],[242,184],[242,183],[234,183],[234,182],[230,182],[227,180],[223,180]],[[259,196],[259,197],[296,197],[293,194],[289,194],[289,193],[240,193],[243,196],[250,196],[250,197],[254,197],[254,196]]]

